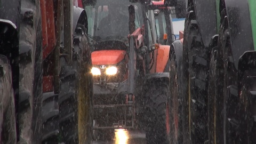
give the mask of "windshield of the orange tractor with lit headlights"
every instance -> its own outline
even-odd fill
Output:
[[[121,0],[98,0],[92,5],[86,5],[88,18],[88,34],[94,43],[94,50],[126,49],[129,46],[127,36],[129,31],[129,6],[135,9],[135,29],[142,26],[142,12],[140,3],[130,3]],[[96,41],[96,42],[95,42]],[[117,46],[113,42],[122,42],[124,46]],[[101,43],[100,47],[95,44]],[[102,43],[113,45],[104,47]],[[103,46],[103,47],[102,47]]]

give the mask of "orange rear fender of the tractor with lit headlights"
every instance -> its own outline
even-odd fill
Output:
[[[169,60],[170,45],[159,45],[156,56],[156,73],[163,73]]]

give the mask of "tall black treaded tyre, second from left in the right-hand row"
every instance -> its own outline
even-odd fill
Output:
[[[183,40],[183,77],[188,83],[185,101],[188,103],[189,134],[192,143],[204,143],[207,133],[207,63],[208,50],[204,46],[197,24],[195,7],[188,8]],[[185,55],[187,55],[185,57]],[[187,105],[186,105],[187,106]]]

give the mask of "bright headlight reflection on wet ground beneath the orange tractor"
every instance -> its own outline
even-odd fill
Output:
[[[94,141],[93,144],[146,144],[145,132],[134,130],[115,130],[113,141]]]

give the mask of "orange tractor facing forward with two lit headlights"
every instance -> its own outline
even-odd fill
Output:
[[[153,124],[158,112],[166,109],[170,45],[158,44],[149,4],[142,0],[84,1],[92,46],[95,139],[113,139],[115,129],[139,129],[139,121],[145,121],[142,117],[151,119],[145,125],[148,143],[162,138],[156,131],[165,124]],[[161,107],[155,106],[158,101]],[[164,121],[165,115],[161,118]]]

